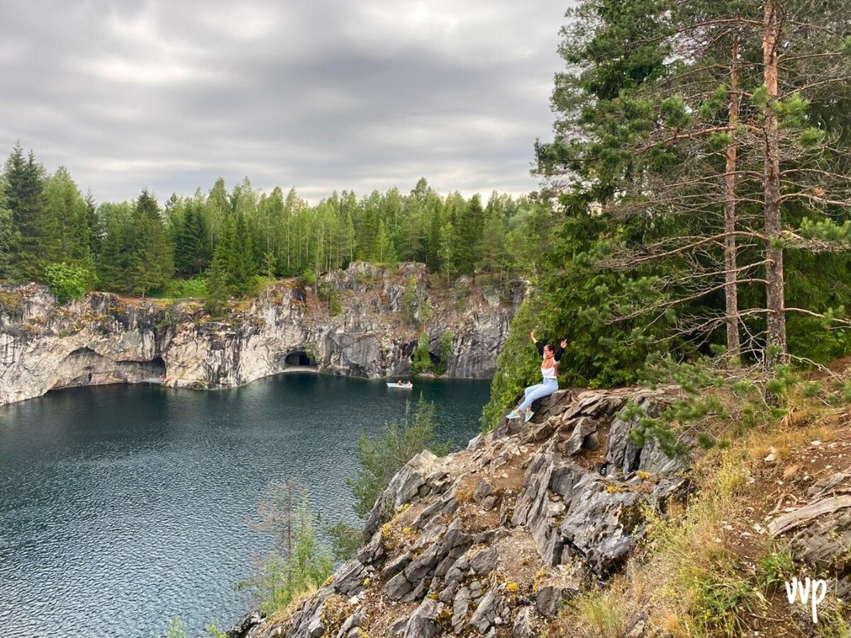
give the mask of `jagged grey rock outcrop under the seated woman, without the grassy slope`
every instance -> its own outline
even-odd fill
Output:
[[[503,420],[445,458],[420,453],[376,502],[357,557],[246,636],[541,635],[620,570],[646,508],[685,493],[688,459],[635,447],[636,424],[619,417],[629,399],[651,411],[672,394],[562,390],[527,424]]]

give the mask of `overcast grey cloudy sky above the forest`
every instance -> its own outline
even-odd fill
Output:
[[[556,0],[0,0],[0,153],[100,201],[230,188],[534,190]]]

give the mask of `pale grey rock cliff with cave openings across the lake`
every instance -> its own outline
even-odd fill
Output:
[[[202,305],[89,293],[58,305],[46,288],[0,286],[0,405],[75,385],[158,380],[225,388],[308,365],[379,378],[410,373],[422,332],[451,339],[447,376],[487,379],[523,300],[522,282],[433,281],[424,265],[353,263],[316,287],[272,285],[213,320]],[[333,300],[332,300],[333,299]]]

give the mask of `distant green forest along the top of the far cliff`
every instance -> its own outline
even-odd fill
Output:
[[[132,202],[97,204],[66,168],[47,174],[18,143],[0,176],[0,277],[144,296],[203,274],[189,289],[223,297],[250,293],[259,275],[313,282],[353,260],[420,261],[448,279],[529,272],[540,268],[551,217],[533,197],[443,197],[426,179],[408,194],[335,191],[314,206],[248,178],[230,191],[218,179],[162,206],[147,189]]]

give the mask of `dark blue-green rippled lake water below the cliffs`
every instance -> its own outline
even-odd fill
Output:
[[[152,385],[59,390],[0,407],[0,635],[190,636],[227,629],[251,600],[233,584],[271,538],[248,525],[269,481],[310,489],[324,520],[357,524],[346,478],[357,435],[420,393],[463,447],[483,381],[312,374],[202,392]]]

